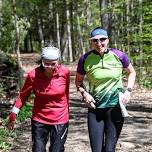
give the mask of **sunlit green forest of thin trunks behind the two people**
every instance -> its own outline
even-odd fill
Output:
[[[0,50],[18,55],[55,43],[62,60],[73,62],[90,49],[89,33],[102,26],[110,47],[125,51],[138,82],[152,85],[151,0],[0,0]],[[20,71],[21,73],[21,71]]]

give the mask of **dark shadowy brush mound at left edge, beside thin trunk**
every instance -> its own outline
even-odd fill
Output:
[[[0,97],[15,95],[18,82],[18,65],[10,55],[0,51]]]

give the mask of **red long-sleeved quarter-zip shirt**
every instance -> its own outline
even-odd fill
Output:
[[[45,124],[69,121],[69,68],[59,65],[51,78],[37,67],[27,74],[15,107],[21,109],[31,92],[35,94],[32,119]]]

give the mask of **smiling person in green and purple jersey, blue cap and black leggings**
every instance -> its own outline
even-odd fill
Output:
[[[91,32],[93,50],[79,59],[76,87],[88,106],[88,131],[92,152],[115,152],[124,118],[119,105],[128,103],[136,72],[128,56],[117,49],[108,48],[107,31],[97,27]],[[126,89],[123,88],[122,71],[128,73]],[[83,85],[84,77],[89,91]]]

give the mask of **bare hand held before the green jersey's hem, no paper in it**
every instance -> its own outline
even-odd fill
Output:
[[[88,107],[93,108],[93,109],[96,108],[95,106],[96,101],[88,92],[84,91],[83,98]]]

